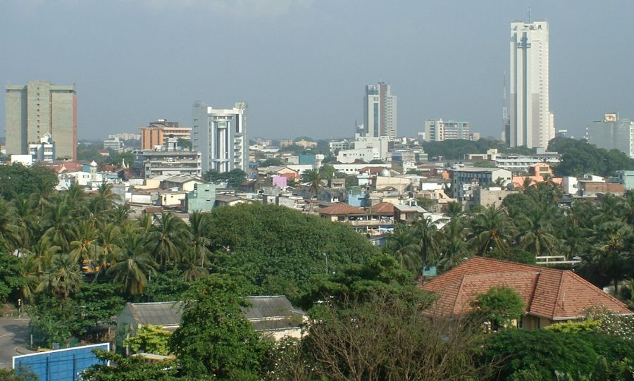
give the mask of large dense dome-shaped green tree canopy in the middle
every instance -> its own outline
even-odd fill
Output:
[[[283,206],[216,208],[211,220],[207,237],[215,256],[213,269],[244,275],[256,286],[274,276],[303,290],[311,275],[324,272],[326,259],[330,271],[339,271],[341,266],[363,263],[377,252],[352,227]],[[266,293],[266,288],[261,292]]]

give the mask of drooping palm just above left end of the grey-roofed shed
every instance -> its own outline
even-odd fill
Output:
[[[147,251],[141,235],[126,237],[118,262],[108,268],[113,282],[122,284],[129,295],[141,295],[145,292],[148,278],[156,274],[156,262]]]

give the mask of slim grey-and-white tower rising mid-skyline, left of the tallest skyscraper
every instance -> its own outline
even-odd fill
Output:
[[[363,98],[363,133],[367,137],[397,137],[397,98],[387,83],[366,85]]]

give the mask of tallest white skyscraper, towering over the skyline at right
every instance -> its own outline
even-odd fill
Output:
[[[530,19],[530,17],[529,17]],[[547,147],[555,137],[549,106],[548,23],[511,23],[511,146]]]

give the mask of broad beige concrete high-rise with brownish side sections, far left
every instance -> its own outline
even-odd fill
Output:
[[[29,154],[29,144],[48,135],[56,158],[77,159],[77,92],[75,85],[29,81],[7,85],[6,153]]]

